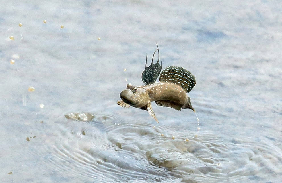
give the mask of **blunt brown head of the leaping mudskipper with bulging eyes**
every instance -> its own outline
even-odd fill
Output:
[[[147,106],[150,102],[149,95],[144,88],[131,85],[130,83],[128,83],[127,88],[120,93],[120,98],[123,102],[136,108]]]

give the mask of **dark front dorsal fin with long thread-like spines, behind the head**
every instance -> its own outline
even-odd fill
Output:
[[[155,83],[158,76],[160,75],[160,71],[162,70],[162,66],[160,65],[160,52],[159,52],[158,44],[157,44],[157,48],[158,49],[156,49],[153,54],[153,58],[156,51],[158,51],[158,61],[154,64],[152,58],[151,65],[149,67],[147,67],[147,54],[146,54],[145,70],[142,72],[142,81],[145,85]]]

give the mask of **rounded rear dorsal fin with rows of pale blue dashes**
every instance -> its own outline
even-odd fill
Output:
[[[171,82],[180,85],[187,93],[196,85],[193,74],[183,67],[169,66],[160,74],[159,81]]]

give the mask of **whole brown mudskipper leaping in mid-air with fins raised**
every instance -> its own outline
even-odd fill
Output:
[[[157,50],[159,52],[159,49]],[[151,65],[146,66],[142,73],[142,80],[145,85],[127,84],[127,88],[120,93],[122,100],[118,101],[117,104],[126,108],[133,106],[147,110],[157,122],[151,106],[153,101],[158,106],[171,107],[176,110],[189,108],[195,112],[190,97],[186,95],[196,84],[194,75],[182,67],[169,66],[160,74],[159,82],[155,82],[160,71],[159,59],[156,64],[153,64],[152,59]]]

